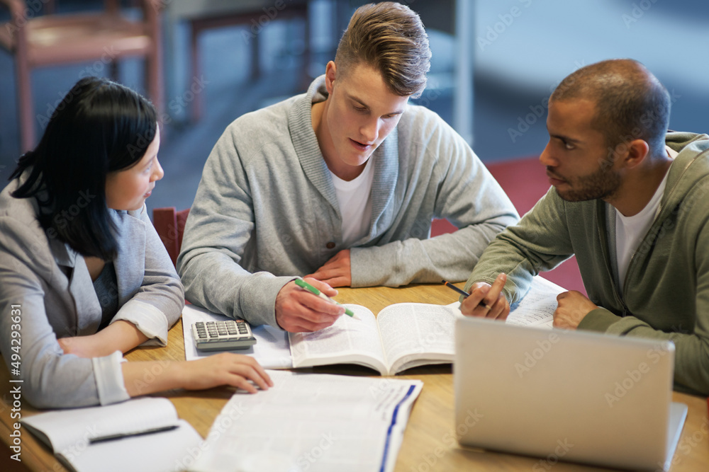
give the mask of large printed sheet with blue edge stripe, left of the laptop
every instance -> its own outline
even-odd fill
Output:
[[[274,386],[235,393],[191,471],[392,471],[423,383],[270,371]]]

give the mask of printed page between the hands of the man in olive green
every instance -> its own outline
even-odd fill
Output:
[[[529,292],[510,311],[507,323],[552,328],[554,311],[557,309],[557,295],[562,292],[566,292],[566,289],[537,275],[532,279]]]

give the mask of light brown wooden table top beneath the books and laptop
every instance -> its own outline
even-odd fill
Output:
[[[438,285],[418,285],[399,289],[372,287],[367,289],[340,289],[336,297],[342,303],[354,303],[367,306],[374,313],[393,303],[416,301],[420,303],[448,304],[456,296],[450,289]],[[140,360],[184,360],[182,323],[178,322],[169,331],[167,347],[147,347],[129,352],[125,357],[130,361]],[[312,369],[312,372],[332,374],[370,375],[372,371],[357,366],[335,366]],[[450,366],[417,367],[397,376],[401,379],[420,379],[424,383],[423,391],[416,401],[409,419],[403,444],[398,454],[396,472],[428,471],[547,471],[541,466],[539,458],[515,456],[488,451],[462,449],[454,442],[453,412],[453,376]],[[145,381],[150,381],[155,373],[146,371]],[[0,369],[0,436],[3,444],[9,444],[12,399],[9,373]],[[195,429],[206,437],[213,420],[228,401],[233,389],[221,387],[208,391],[171,391],[162,396],[170,398],[181,418],[186,419]],[[675,452],[671,472],[709,471],[709,418],[706,398],[674,393],[674,401],[686,403],[689,413],[686,424]],[[23,403],[22,415],[31,415],[37,410]],[[22,464],[32,471],[64,471],[54,459],[49,449],[40,444],[26,430],[22,432]],[[0,470],[15,471],[15,461],[9,460],[11,452],[0,451]],[[6,465],[9,464],[9,467]],[[548,465],[547,465],[548,467]],[[578,464],[558,463],[554,472],[608,470]]]

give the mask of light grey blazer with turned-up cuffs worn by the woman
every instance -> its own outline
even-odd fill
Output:
[[[82,255],[42,229],[36,200],[10,195],[17,187],[15,179],[0,192],[0,352],[11,378],[23,379],[22,397],[38,408],[126,400],[121,352],[84,359],[65,355],[57,343],[96,333],[101,305]],[[145,206],[111,210],[111,217],[120,235],[114,261],[120,308],[111,323],[130,321],[148,343],[164,345],[182,313],[182,283]]]

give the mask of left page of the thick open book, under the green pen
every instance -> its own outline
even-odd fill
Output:
[[[376,318],[361,305],[345,305],[359,320],[342,315],[335,323],[315,333],[289,333],[293,367],[324,364],[360,364],[386,373]]]

